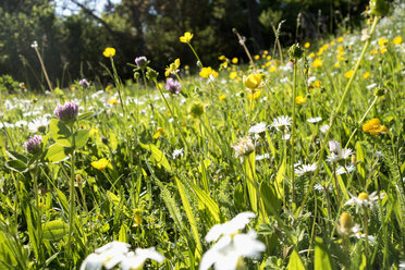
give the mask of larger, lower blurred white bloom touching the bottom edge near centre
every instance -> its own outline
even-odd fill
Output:
[[[225,235],[202,255],[199,270],[208,270],[213,265],[216,270],[235,270],[243,257],[257,258],[265,251],[263,243],[256,240],[255,231],[248,234]]]

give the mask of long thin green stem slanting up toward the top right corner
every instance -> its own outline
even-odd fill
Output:
[[[323,140],[322,148],[320,150],[319,159],[318,159],[318,162],[317,162],[317,170],[314,172],[312,179],[311,179],[311,181],[309,183],[308,192],[305,194],[305,197],[304,197],[303,202],[300,204],[298,210],[295,212],[295,217],[299,217],[299,214],[302,213],[302,211],[304,209],[305,204],[308,200],[309,194],[314,189],[315,180],[317,179],[318,173],[319,173],[319,168],[320,168],[321,163],[323,162],[324,150],[327,148],[327,143],[328,143],[329,136],[331,134],[333,124],[335,123],[336,115],[340,112],[340,110],[342,109],[343,102],[345,101],[346,96],[348,94],[348,90],[351,89],[351,86],[353,84],[354,77],[356,76],[356,73],[357,73],[357,71],[358,71],[358,69],[359,69],[359,66],[360,66],[360,64],[363,62],[363,59],[366,56],[366,51],[367,51],[368,47],[370,46],[371,36],[372,36],[373,32],[376,30],[377,23],[378,23],[379,20],[380,20],[379,16],[375,17],[375,22],[372,23],[371,30],[370,30],[370,38],[367,39],[366,44],[363,47],[361,54],[360,54],[360,57],[359,57],[359,59],[358,59],[358,61],[356,63],[356,66],[354,69],[354,72],[353,72],[353,75],[352,75],[351,79],[347,82],[347,85],[346,85],[346,87],[345,87],[345,89],[343,91],[343,95],[342,95],[341,101],[339,102],[338,108],[331,114],[329,130],[328,130],[327,134],[324,135],[324,140]]]

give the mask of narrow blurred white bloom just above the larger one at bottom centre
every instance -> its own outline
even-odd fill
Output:
[[[206,241],[213,242],[219,240],[222,235],[235,234],[245,229],[245,226],[250,222],[250,219],[254,219],[255,217],[256,216],[253,212],[241,212],[232,220],[212,226],[206,235]]]

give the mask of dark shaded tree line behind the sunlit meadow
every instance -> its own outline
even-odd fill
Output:
[[[54,0],[3,0],[0,2],[0,74],[10,74],[27,87],[41,89],[45,81],[30,47],[38,41],[53,85],[79,77],[108,79],[102,63],[106,47],[116,48],[114,58],[123,77],[126,65],[146,56],[163,71],[176,58],[195,68],[195,58],[179,42],[185,30],[195,34],[193,45],[206,65],[218,57],[245,58],[232,28],[246,37],[255,53],[269,49],[282,20],[283,46],[356,24],[367,0],[122,0],[106,2],[96,11],[95,0],[64,0],[74,12],[57,15]],[[61,1],[58,1],[60,4]],[[299,28],[297,15],[300,13]],[[351,17],[351,21],[347,20]],[[348,22],[352,25],[348,25]],[[42,88],[44,89],[44,88]]]

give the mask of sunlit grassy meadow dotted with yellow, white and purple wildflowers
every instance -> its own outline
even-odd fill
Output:
[[[123,82],[106,48],[109,85],[1,93],[0,269],[405,269],[405,4],[384,4],[248,63],[206,66],[186,32],[198,74],[139,56]]]

